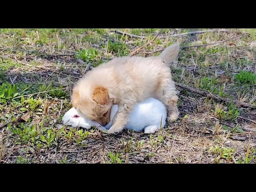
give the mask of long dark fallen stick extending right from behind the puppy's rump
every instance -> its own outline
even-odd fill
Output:
[[[206,97],[208,96],[210,98],[221,100],[221,101],[224,101],[224,102],[234,102],[236,105],[242,106],[242,107],[245,107],[245,108],[247,108],[247,107],[256,108],[256,105],[253,105],[253,104],[249,104],[249,103],[245,103],[245,102],[240,102],[238,100],[231,100],[229,98],[223,98],[223,97],[217,96],[215,94],[212,94],[211,92],[208,92],[208,91],[205,91],[205,90],[198,90],[198,89],[189,87],[189,86],[181,84],[181,83],[175,83],[175,84],[178,87],[181,87],[183,89],[186,89],[186,90],[188,90],[190,92],[193,92],[193,93],[196,93],[196,94],[199,94],[199,95],[202,95],[202,96],[206,96]]]

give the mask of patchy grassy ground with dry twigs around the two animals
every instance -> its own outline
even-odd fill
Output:
[[[3,136],[0,135],[0,149],[5,149],[4,153],[1,151],[0,162],[76,163],[84,160],[116,164],[138,163],[138,159],[142,162],[166,159],[164,162],[183,163],[188,158],[199,162],[196,156],[192,158],[193,154],[188,155],[183,149],[194,146],[201,138],[217,146],[210,150],[215,159],[202,155],[202,162],[232,162],[234,151],[239,150],[236,146],[241,147],[241,143],[234,140],[236,144],[232,146],[219,147],[215,138],[205,137],[209,135],[205,130],[214,129],[218,136],[226,132],[244,134],[246,126],[251,128],[252,124],[246,122],[245,126],[239,116],[254,120],[255,111],[209,100],[186,90],[180,90],[178,100],[184,118],[161,127],[155,134],[136,135],[128,131],[120,137],[111,137],[101,132],[102,140],[96,129],[62,126],[64,112],[72,107],[72,86],[82,77],[87,64],[96,67],[110,58],[128,56],[152,40],[160,29],[117,29],[144,38],[110,30],[113,29],[0,29],[0,124],[7,122],[2,128]],[[178,40],[181,46],[195,46],[223,42],[233,34],[206,32],[170,36],[194,30],[205,29],[164,29],[160,36],[168,38],[156,38],[138,56],[151,56],[149,52]],[[181,49],[178,61],[170,66],[172,78],[224,98],[256,104],[256,45],[253,44],[256,30],[238,31],[249,32],[251,36]],[[80,64],[78,59],[86,65]],[[194,120],[200,123],[192,123]],[[255,140],[253,136],[250,139]],[[204,151],[202,143],[190,150]],[[49,154],[47,158],[45,154]],[[236,163],[253,163],[255,158],[254,148],[250,148],[247,156],[235,157]]]

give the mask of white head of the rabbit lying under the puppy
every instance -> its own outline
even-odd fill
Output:
[[[86,118],[82,118],[82,116],[78,113],[78,111],[74,107],[72,107],[70,110],[68,110],[64,114],[64,116],[62,117],[62,122],[65,125],[71,125],[74,128],[82,127],[85,129],[90,129],[91,126],[97,126],[97,127],[100,126],[100,124],[98,124],[97,122],[94,122]]]

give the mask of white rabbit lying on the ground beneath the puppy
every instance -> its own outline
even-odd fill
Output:
[[[113,105],[110,112],[110,122],[104,127],[105,129],[109,129],[112,126],[113,119],[117,111],[118,105]],[[63,116],[63,123],[73,127],[80,126],[86,129],[90,129],[92,125],[100,126],[97,122],[82,118],[81,116],[79,118],[73,118],[74,115],[80,116],[78,111],[73,107]],[[167,112],[164,104],[157,99],[148,98],[142,102],[138,102],[134,106],[125,128],[136,132],[144,129],[144,133],[154,133],[160,128],[160,126],[165,126],[166,117]],[[100,127],[103,128],[102,126]]]

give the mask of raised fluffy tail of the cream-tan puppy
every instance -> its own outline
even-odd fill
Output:
[[[180,52],[180,43],[174,43],[170,46],[168,46],[160,55],[159,57],[162,58],[162,60],[170,65],[171,62],[173,62],[178,54]]]

